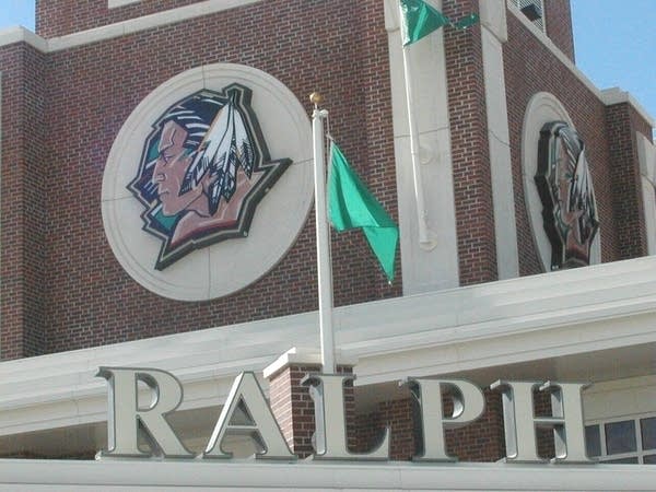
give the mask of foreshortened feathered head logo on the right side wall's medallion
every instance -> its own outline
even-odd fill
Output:
[[[551,243],[551,269],[589,265],[599,229],[597,203],[585,145],[566,122],[542,127],[535,179]]]

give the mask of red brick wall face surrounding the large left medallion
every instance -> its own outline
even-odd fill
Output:
[[[38,163],[47,163],[48,174],[40,195],[45,214],[37,215],[47,241],[34,248],[43,258],[28,261],[43,276],[43,281],[35,282],[44,290],[44,295],[36,297],[43,302],[43,319],[48,320],[47,329],[39,331],[44,337],[40,352],[316,309],[314,216],[281,262],[236,294],[184,303],[145,291],[121,269],[105,239],[99,202],[104,165],[120,126],[153,89],[194,67],[245,63],[281,80],[307,105],[308,114],[308,94],[324,94],[332,134],[396,218],[383,15],[377,0],[323,1],[313,9],[307,9],[305,0],[269,0],[49,55],[48,70],[37,78],[47,87],[42,99],[44,115],[32,118],[44,122],[48,156]],[[329,25],[325,19],[331,19]],[[248,36],[243,35],[245,31]],[[9,101],[9,93],[5,98]],[[22,107],[19,101],[12,104]],[[15,125],[13,112],[2,114],[3,128]],[[11,142],[3,140],[8,160]],[[3,165],[3,172],[7,169]],[[3,201],[9,200],[10,186],[10,179],[2,181]],[[11,212],[3,214],[4,221],[10,219]],[[17,230],[22,233],[25,227]],[[3,227],[3,244],[9,234],[10,227]],[[5,260],[11,258],[10,251],[3,248],[3,268],[26,268],[23,262]],[[336,305],[400,295],[400,276],[394,286],[387,285],[360,233],[333,235],[332,255]],[[27,311],[22,301],[10,302],[17,293],[11,282],[3,282],[3,337],[11,339],[2,345],[5,359],[36,353],[15,345],[12,333],[23,330],[23,318],[5,316],[11,309]],[[30,329],[25,325],[25,330]]]

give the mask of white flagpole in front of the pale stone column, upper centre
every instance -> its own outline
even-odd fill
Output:
[[[399,22],[403,23],[403,9],[399,2]],[[402,36],[401,36],[402,42]],[[421,178],[421,162],[419,156],[419,130],[414,118],[414,98],[412,95],[412,77],[408,61],[407,47],[403,46],[403,75],[406,81],[406,103],[408,104],[408,125],[410,126],[410,156],[412,159],[412,180],[414,183],[414,203],[417,204],[417,222],[419,226],[419,244],[423,249],[433,249],[437,243],[431,237],[426,223],[427,212],[424,204],[423,180]]]

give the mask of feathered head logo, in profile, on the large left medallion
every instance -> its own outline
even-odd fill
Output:
[[[157,270],[247,236],[258,202],[291,164],[270,160],[250,101],[239,84],[202,90],[153,124],[128,189],[145,207],[143,230],[162,239]]]

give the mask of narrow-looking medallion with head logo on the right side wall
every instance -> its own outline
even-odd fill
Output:
[[[526,107],[522,174],[543,271],[601,262],[601,231],[583,142],[565,107],[547,92],[534,94]]]

